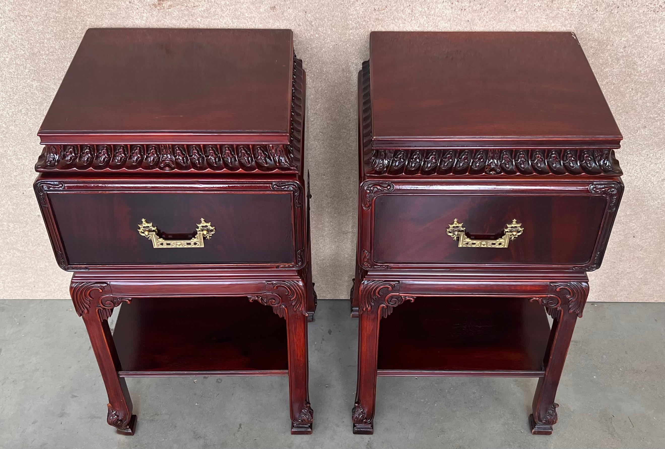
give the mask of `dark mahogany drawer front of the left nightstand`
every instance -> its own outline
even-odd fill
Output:
[[[294,264],[291,192],[51,190],[48,203],[65,265],[74,269],[90,265]],[[174,243],[198,239],[201,218],[214,227],[209,239],[199,239],[202,247]],[[139,233],[142,219],[156,228],[158,247],[150,235]]]

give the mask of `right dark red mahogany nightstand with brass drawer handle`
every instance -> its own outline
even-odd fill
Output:
[[[376,376],[533,376],[531,432],[551,434],[623,192],[577,38],[372,33],[358,119],[353,432],[374,430]]]

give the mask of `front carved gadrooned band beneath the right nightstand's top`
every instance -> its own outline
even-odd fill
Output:
[[[609,149],[372,150],[372,175],[610,175],[623,173]]]

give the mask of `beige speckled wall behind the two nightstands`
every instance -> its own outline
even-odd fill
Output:
[[[626,193],[591,300],[665,301],[663,1],[0,2],[0,297],[64,298],[31,183],[37,128],[89,27],[291,28],[307,71],[314,275],[348,295],[356,241],[356,73],[372,30],[575,31],[624,135]],[[574,227],[573,227],[574,229]],[[646,238],[645,238],[646,237]]]

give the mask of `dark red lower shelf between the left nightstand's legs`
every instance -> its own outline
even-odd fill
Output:
[[[286,321],[241,298],[137,298],[113,333],[134,376],[287,375]]]

